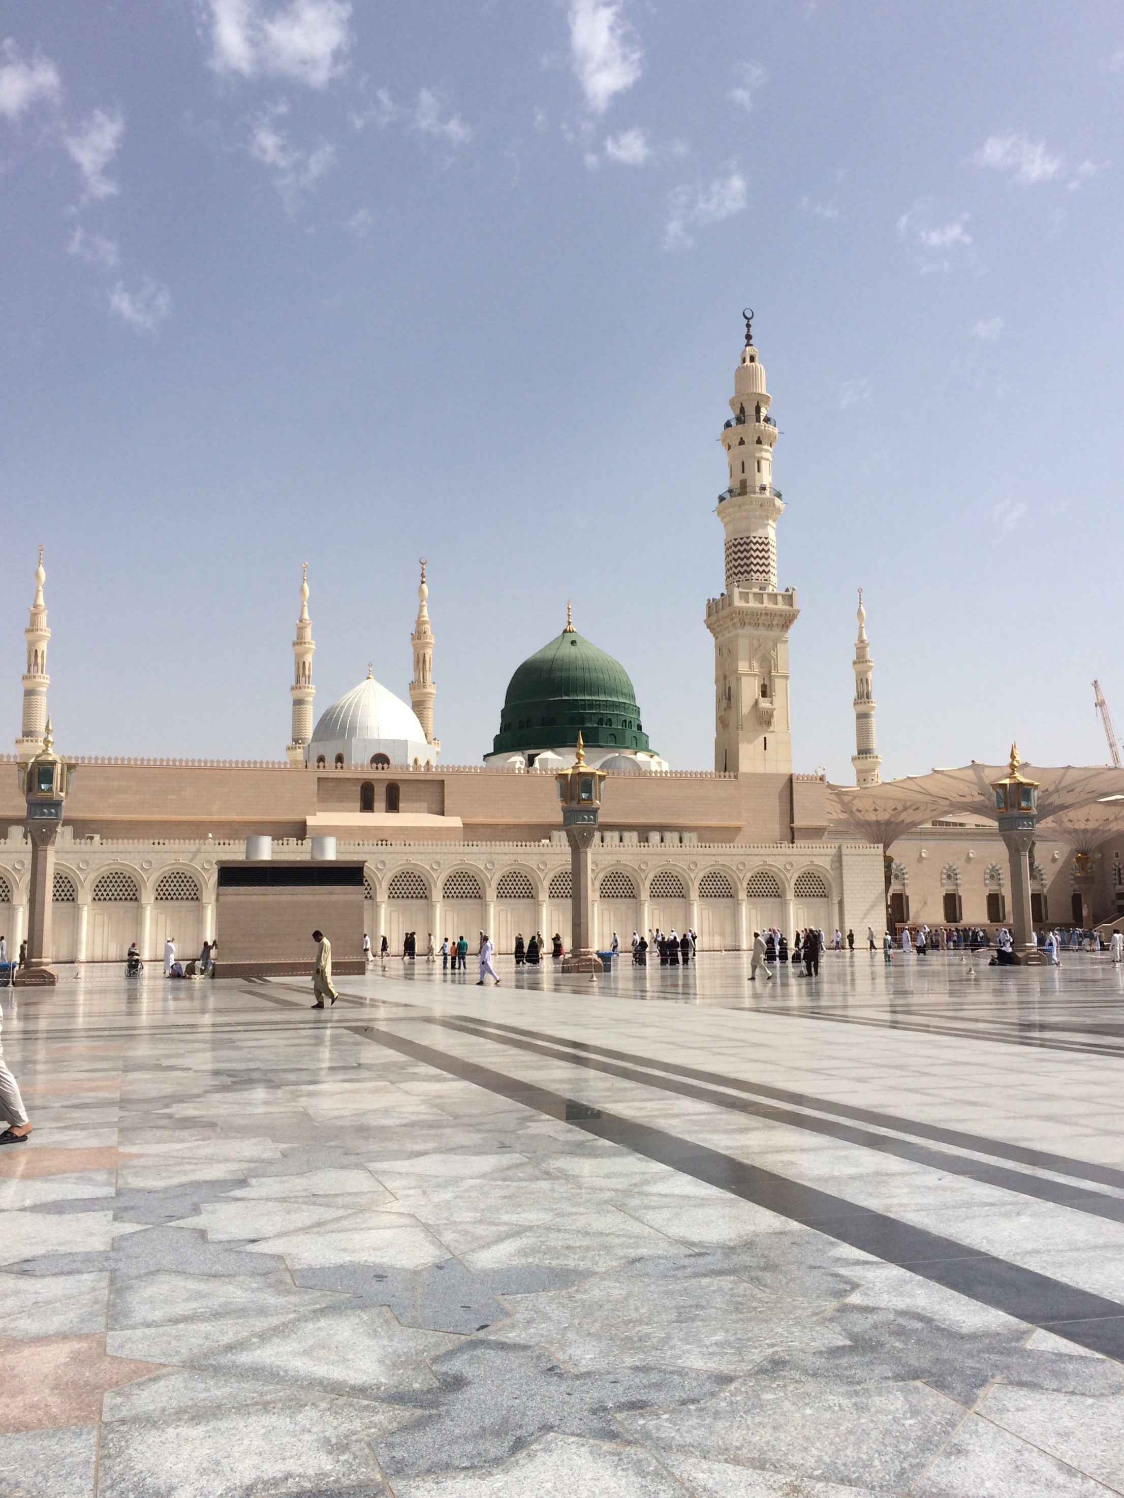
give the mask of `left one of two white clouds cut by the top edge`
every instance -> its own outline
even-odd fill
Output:
[[[241,78],[292,78],[324,88],[343,70],[351,0],[205,0],[211,66]]]

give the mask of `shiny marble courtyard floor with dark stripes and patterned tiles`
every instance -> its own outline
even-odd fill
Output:
[[[4,1498],[1124,1494],[1124,977],[0,990]]]

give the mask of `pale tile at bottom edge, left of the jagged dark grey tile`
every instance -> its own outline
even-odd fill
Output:
[[[304,1498],[376,1486],[372,1441],[412,1417],[369,1401],[294,1396],[112,1420],[102,1429],[97,1498]]]

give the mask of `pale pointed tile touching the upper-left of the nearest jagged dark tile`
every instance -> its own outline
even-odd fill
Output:
[[[459,1344],[459,1336],[445,1332],[403,1327],[387,1306],[333,1306],[216,1353],[207,1366],[325,1393],[376,1398],[433,1387],[436,1378],[427,1359]]]

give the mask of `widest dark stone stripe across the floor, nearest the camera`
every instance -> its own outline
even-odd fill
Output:
[[[1055,1332],[1078,1347],[1124,1360],[1124,1305],[1115,1300],[1078,1290],[1033,1269],[1010,1264],[925,1228],[910,1227],[908,1222],[859,1207],[814,1186],[802,1186],[770,1170],[745,1164],[731,1155],[679,1138],[647,1124],[604,1112],[590,1118],[589,1115],[596,1110],[587,1103],[492,1071],[462,1056],[421,1046],[406,1040],[405,1035],[363,1025],[349,1025],[348,1029],[388,1050],[484,1088],[496,1097],[508,1098],[549,1118],[562,1119],[574,1128],[728,1191],[791,1222],[908,1269],[922,1279],[946,1285],[1019,1321]]]

